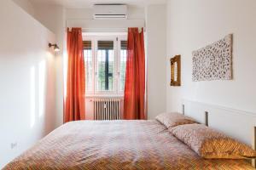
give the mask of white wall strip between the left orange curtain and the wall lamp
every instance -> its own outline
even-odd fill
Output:
[[[63,123],[63,59],[66,53],[66,9],[56,5],[34,4],[35,18],[56,35],[56,43],[61,49],[55,54],[55,127]],[[47,13],[45,12],[47,11]]]

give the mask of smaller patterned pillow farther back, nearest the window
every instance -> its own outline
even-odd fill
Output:
[[[195,120],[189,116],[184,116],[177,112],[161,113],[159,116],[156,116],[155,119],[164,124],[167,128],[176,127],[177,125],[196,123]]]

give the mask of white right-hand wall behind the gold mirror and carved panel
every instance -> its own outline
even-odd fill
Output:
[[[170,0],[167,5],[167,81],[169,59],[182,55],[182,87],[167,85],[167,111],[181,111],[191,99],[256,112],[256,1]],[[192,82],[192,51],[234,34],[234,80]]]

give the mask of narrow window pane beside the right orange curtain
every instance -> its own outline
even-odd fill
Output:
[[[126,71],[126,49],[127,41],[121,41],[121,51],[120,51],[120,91],[125,90],[125,71]]]

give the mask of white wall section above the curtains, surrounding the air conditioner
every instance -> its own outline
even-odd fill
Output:
[[[82,27],[87,32],[123,32],[144,26],[144,8],[129,6],[128,20],[93,20],[92,8],[67,8],[67,27]]]

